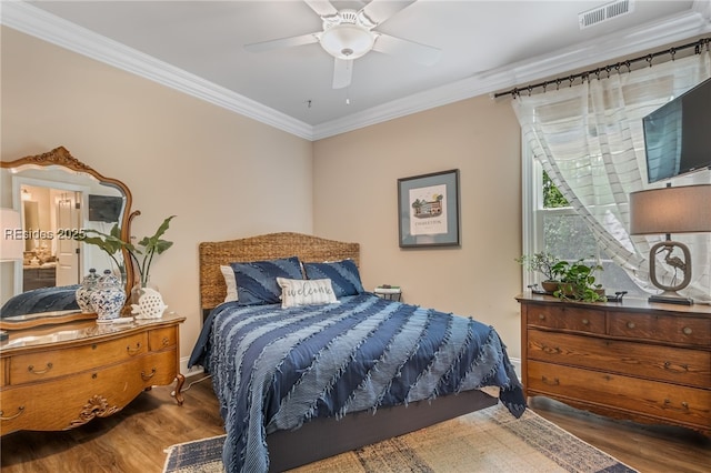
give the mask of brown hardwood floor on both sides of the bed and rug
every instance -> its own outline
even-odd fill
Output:
[[[160,473],[166,447],[224,433],[209,380],[186,391],[182,406],[171,390],[154,388],[120,413],[71,431],[6,435],[0,440],[0,467],[3,473]],[[711,439],[699,433],[613,421],[542,397],[531,400],[530,406],[640,472],[711,471]]]

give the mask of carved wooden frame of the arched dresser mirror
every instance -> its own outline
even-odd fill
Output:
[[[109,184],[118,188],[126,195],[126,207],[123,209],[123,214],[121,215],[121,240],[130,241],[131,238],[131,221],[137,215],[140,215],[141,212],[138,210],[131,211],[131,203],[133,201],[131,197],[131,191],[129,188],[118,179],[107,178],[101,174],[96,169],[91,168],[88,164],[79,161],[77,158],[72,157],[71,153],[64,148],[59,147],[54,148],[51,151],[48,151],[42,154],[28,155],[24,158],[17,159],[14,161],[0,161],[0,169],[14,169],[23,165],[36,165],[36,167],[51,167],[58,165],[71,171],[83,172],[97,179],[102,184]],[[130,306],[130,294],[131,288],[133,288],[136,274],[133,269],[133,261],[131,256],[128,254],[128,251],[122,250],[123,252],[123,261],[126,264],[126,304]]]

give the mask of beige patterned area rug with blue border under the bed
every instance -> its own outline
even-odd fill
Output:
[[[164,473],[221,473],[224,435],[172,445]],[[635,472],[528,410],[501,404],[301,466],[298,473]]]

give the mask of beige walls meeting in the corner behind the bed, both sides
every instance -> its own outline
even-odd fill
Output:
[[[481,97],[310,143],[166,87],[2,28],[2,160],[64,145],[126,182],[133,234],[177,214],[151,280],[182,326],[200,329],[200,241],[298,231],[356,241],[368,289],[494,325],[520,353],[520,134],[508,103]],[[461,172],[461,248],[398,248],[397,180]],[[219,172],[218,172],[219,170]]]

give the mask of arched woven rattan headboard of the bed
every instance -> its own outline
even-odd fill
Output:
[[[227,293],[221,264],[299,256],[306,263],[351,259],[359,264],[360,245],[302,233],[269,233],[240,240],[203,242],[200,252],[200,306],[210,310]]]

